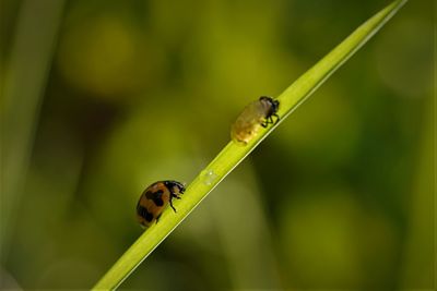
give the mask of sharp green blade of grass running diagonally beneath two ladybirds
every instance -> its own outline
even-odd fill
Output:
[[[117,288],[141,262],[196,208],[196,206],[265,138],[294,109],[314,93],[339,66],[353,56],[408,0],[398,0],[375,14],[346,39],[308,70],[277,100],[281,120],[261,130],[246,146],[229,142],[189,184],[184,198],[175,203],[177,214],[164,211],[160,223],[145,231],[96,283],[94,289]]]

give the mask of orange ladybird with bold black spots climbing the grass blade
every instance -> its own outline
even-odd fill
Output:
[[[173,206],[173,198],[180,199],[185,186],[177,181],[158,181],[147,186],[140,196],[137,204],[137,217],[141,226],[149,228],[153,222],[160,220],[165,207]]]

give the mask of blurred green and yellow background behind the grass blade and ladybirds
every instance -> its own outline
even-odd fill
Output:
[[[142,233],[144,187],[189,183],[389,1],[0,3],[0,288],[84,289]],[[410,1],[121,287],[430,290],[434,12]]]

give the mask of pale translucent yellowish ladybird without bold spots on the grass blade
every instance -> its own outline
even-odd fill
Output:
[[[261,96],[246,106],[231,128],[232,140],[237,144],[246,145],[258,134],[260,126],[267,128],[280,120],[276,114],[279,107],[280,101],[269,96]],[[276,118],[275,121],[273,121],[273,117]]]

